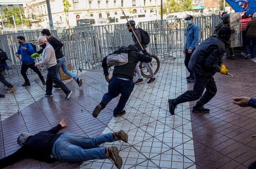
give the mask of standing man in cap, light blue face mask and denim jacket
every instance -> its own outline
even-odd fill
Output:
[[[186,42],[183,49],[183,53],[185,54],[184,64],[190,73],[190,75],[186,77],[187,82],[192,83],[195,81],[195,77],[193,75],[193,72],[188,68],[188,62],[190,61],[190,57],[193,51],[198,46],[199,28],[193,23],[192,15],[187,15],[185,18],[185,21],[188,27],[186,28],[186,33],[185,33]]]

